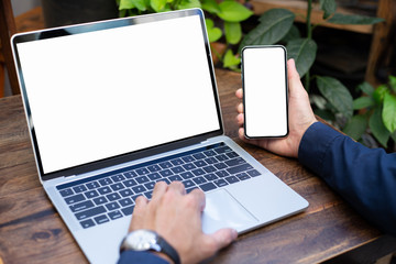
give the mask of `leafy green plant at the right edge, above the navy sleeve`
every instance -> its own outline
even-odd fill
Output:
[[[369,82],[363,82],[359,89],[365,95],[353,101],[353,109],[360,112],[351,118],[343,131],[369,146],[375,146],[370,141],[373,134],[382,146],[387,147],[389,140],[396,142],[396,77],[389,76],[388,84],[376,89]]]

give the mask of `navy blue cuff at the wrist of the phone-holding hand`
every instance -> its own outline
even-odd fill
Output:
[[[321,122],[311,124],[302,135],[298,147],[298,161],[315,174],[321,175],[326,153],[341,133]]]

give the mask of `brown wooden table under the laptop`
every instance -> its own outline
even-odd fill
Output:
[[[226,133],[310,206],[297,216],[241,235],[212,263],[318,263],[382,234],[295,160],[244,144],[234,121],[240,75],[217,70]],[[76,95],[78,96],[78,95]],[[260,202],[260,201],[257,201]],[[0,99],[0,264],[86,263],[37,177],[20,96]]]

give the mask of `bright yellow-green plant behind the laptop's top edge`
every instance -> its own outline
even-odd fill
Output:
[[[237,69],[240,59],[232,54],[232,45],[239,44],[242,38],[241,22],[249,19],[253,12],[235,0],[226,0],[218,3],[216,0],[117,0],[120,16],[145,13],[165,12],[189,8],[201,8],[206,12],[206,25],[209,42],[217,42],[223,35],[228,51],[222,56],[215,53],[222,62],[223,67]],[[216,22],[220,28],[216,26]]]

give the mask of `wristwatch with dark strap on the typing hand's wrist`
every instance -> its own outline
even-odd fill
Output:
[[[120,253],[125,250],[161,252],[170,257],[175,264],[180,264],[176,250],[152,230],[140,229],[127,234],[121,242]]]

